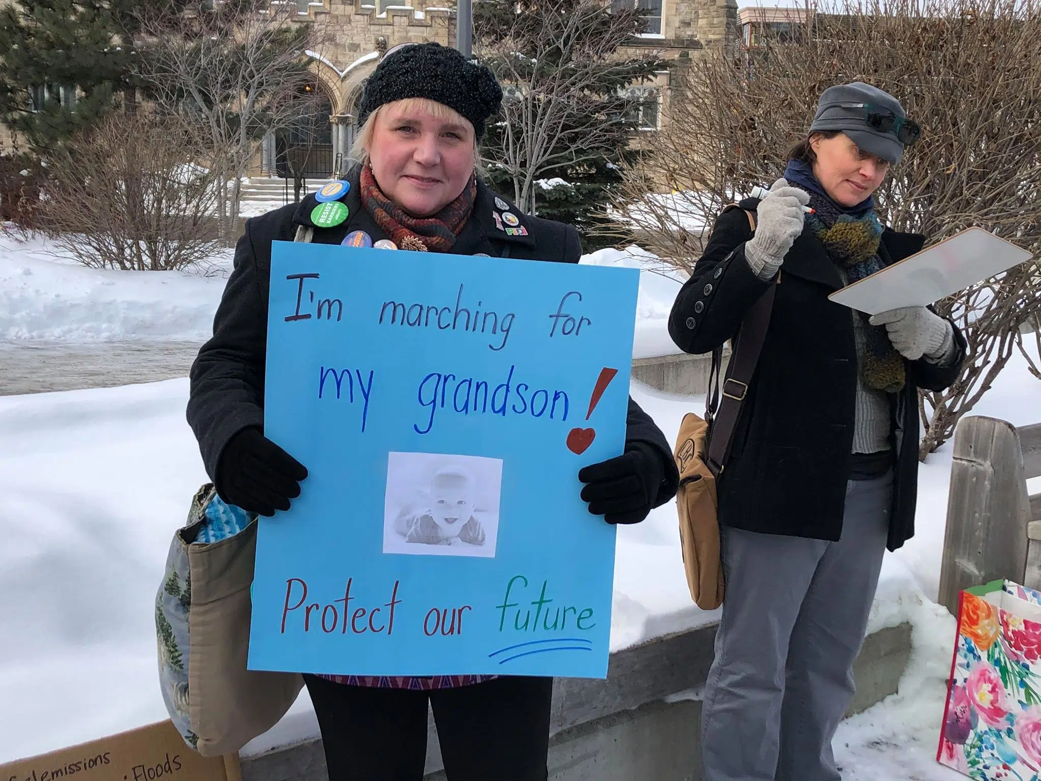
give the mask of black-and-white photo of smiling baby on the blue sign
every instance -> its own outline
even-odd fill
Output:
[[[383,552],[494,557],[503,462],[442,453],[390,453]]]

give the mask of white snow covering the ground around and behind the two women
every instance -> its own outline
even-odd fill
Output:
[[[208,335],[227,257],[212,278],[83,269],[46,242],[0,237],[0,338],[94,341]],[[605,250],[584,262],[641,269],[634,355],[675,351],[664,323],[680,281],[653,256]],[[1041,421],[1038,380],[1015,355],[972,414]],[[186,380],[0,398],[0,762],[166,717],[155,589],[170,537],[206,477],[184,422]],[[674,438],[703,399],[634,383]],[[911,622],[900,691],[847,720],[835,747],[846,781],[949,781],[933,759],[954,619],[935,599],[950,444],[919,478],[918,532],[887,554],[870,630]],[[1041,480],[1032,481],[1041,490]],[[671,504],[618,530],[611,646],[712,621],[691,604]],[[86,715],[84,715],[86,714]],[[316,734],[306,694],[246,753]]]

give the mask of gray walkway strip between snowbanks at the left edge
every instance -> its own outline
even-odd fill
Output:
[[[0,342],[0,396],[186,377],[194,342]]]

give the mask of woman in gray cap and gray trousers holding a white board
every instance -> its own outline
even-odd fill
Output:
[[[921,249],[871,198],[919,134],[881,90],[824,91],[784,177],[718,217],[672,307],[672,339],[707,353],[773,292],[751,382],[723,386],[742,401],[717,482],[726,598],[705,781],[841,778],[831,741],[883,553],[914,533],[918,388],[945,388],[965,359],[930,308],[868,318],[828,300]],[[741,209],[758,211],[755,231]]]

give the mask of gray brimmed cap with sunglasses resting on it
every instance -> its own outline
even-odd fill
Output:
[[[865,109],[848,107],[849,103],[869,103],[896,117],[907,117],[904,106],[892,95],[877,86],[854,81],[849,84],[830,86],[817,101],[817,112],[810,125],[810,133],[818,130],[841,130],[853,143],[894,166],[904,156],[904,145],[896,137],[896,129],[880,132],[867,124]]]

